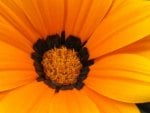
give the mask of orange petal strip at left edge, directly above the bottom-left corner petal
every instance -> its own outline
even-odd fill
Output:
[[[37,74],[29,70],[0,71],[0,92],[30,83],[36,78]]]

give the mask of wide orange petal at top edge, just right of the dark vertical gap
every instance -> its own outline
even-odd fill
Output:
[[[86,41],[109,10],[112,0],[68,0],[65,4],[66,34]]]

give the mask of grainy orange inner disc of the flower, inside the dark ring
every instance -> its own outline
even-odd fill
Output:
[[[82,69],[77,52],[64,46],[46,51],[42,65],[46,78],[58,85],[76,83]]]

